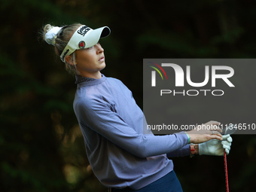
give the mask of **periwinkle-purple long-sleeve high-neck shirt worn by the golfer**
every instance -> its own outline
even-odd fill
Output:
[[[93,172],[106,187],[145,187],[173,169],[167,157],[190,154],[185,133],[145,134],[144,114],[119,80],[82,78],[74,110]],[[89,80],[89,81],[88,81]]]

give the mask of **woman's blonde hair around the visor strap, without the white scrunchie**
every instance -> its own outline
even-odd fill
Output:
[[[57,56],[60,56],[62,51],[65,49],[66,45],[69,43],[70,38],[72,38],[72,35],[74,32],[82,26],[81,23],[74,23],[69,26],[62,26],[62,29],[59,30],[58,34],[56,35],[55,39],[55,53]],[[42,32],[43,38],[44,35],[50,31],[54,26],[51,26],[50,24],[47,24],[44,26],[44,32]],[[73,53],[73,62],[75,62],[75,52]],[[69,62],[65,61],[66,70],[72,74],[78,74],[78,71],[76,69],[75,65],[69,64]]]

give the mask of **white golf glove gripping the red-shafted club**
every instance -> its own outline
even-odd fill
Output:
[[[229,154],[232,137],[230,135],[224,135],[222,136],[222,139],[222,141],[218,139],[212,139],[208,142],[200,143],[199,154],[222,156],[224,155],[224,149],[226,151],[226,154]]]

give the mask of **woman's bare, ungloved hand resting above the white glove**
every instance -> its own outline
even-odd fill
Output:
[[[222,140],[220,123],[215,120],[211,120],[207,123],[197,126],[194,130],[187,131],[190,136],[190,143],[198,144],[207,142],[211,139]]]

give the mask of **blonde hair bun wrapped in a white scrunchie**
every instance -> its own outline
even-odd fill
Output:
[[[60,29],[61,27],[51,26],[50,24],[44,26],[44,41],[46,41],[47,44],[52,44],[53,46],[55,46],[56,35],[58,34]]]

